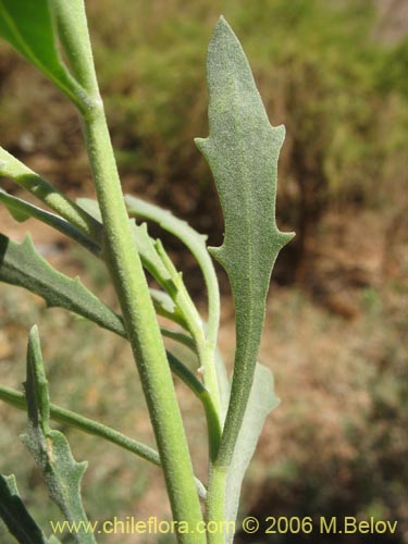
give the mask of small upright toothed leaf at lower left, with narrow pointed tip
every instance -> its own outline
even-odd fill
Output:
[[[27,381],[24,387],[28,433],[21,436],[22,442],[40,469],[52,500],[67,521],[82,526],[78,533],[73,533],[76,542],[96,544],[94,535],[86,531],[88,519],[81,498],[81,480],[87,462],[76,462],[65,436],[49,426],[50,401],[36,326],[32,329],[28,337]]]

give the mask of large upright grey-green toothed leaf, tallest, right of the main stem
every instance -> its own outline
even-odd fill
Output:
[[[252,384],[272,268],[293,234],[275,223],[277,157],[284,127],[272,127],[233,30],[223,17],[208,49],[210,136],[196,144],[208,161],[224,213],[225,237],[210,248],[235,302],[234,378],[219,463],[227,467]]]

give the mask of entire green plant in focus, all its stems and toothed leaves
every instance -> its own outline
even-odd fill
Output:
[[[225,225],[221,247],[209,248],[206,235],[170,211],[139,196],[123,195],[84,1],[40,0],[34,7],[29,0],[0,0],[0,36],[77,109],[96,193],[96,200],[73,201],[0,148],[0,175],[39,199],[41,207],[3,189],[0,205],[15,221],[40,221],[99,259],[118,306],[110,307],[102,301],[103,294],[94,294],[78,277],[71,279],[47,262],[29,235],[18,244],[0,234],[0,282],[23,287],[48,307],[74,312],[129,344],[156,448],[50,403],[36,326],[28,334],[25,391],[0,385],[0,399],[26,409],[28,430],[22,440],[65,520],[88,523],[86,490],[81,485],[87,463],[75,460],[65,435],[52,429],[51,421],[111,442],[161,470],[180,544],[230,544],[233,533],[183,531],[182,523],[198,528],[203,522],[235,522],[243,479],[264,420],[279,404],[272,373],[258,362],[258,351],[272,269],[293,237],[275,222],[284,127],[270,124],[243,48],[221,17],[207,57],[210,134],[196,139],[213,174]],[[168,248],[160,237],[151,236],[158,230],[178,238],[196,260],[207,289],[206,318]],[[218,345],[221,297],[212,259],[226,271],[235,305],[236,346],[230,382]],[[202,467],[196,467],[194,447],[187,441],[189,425],[182,418],[173,376],[187,386],[183,394],[199,399],[205,415],[207,437],[200,447],[208,450],[208,458]],[[197,473],[205,475],[202,481]],[[18,542],[57,542],[55,536],[47,540],[37,527],[12,478],[1,477],[0,495],[0,517]],[[35,541],[27,531],[36,535]],[[73,537],[78,544],[97,542],[86,531]]]

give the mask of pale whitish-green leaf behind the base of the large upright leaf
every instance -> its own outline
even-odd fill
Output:
[[[252,458],[264,420],[279,404],[280,399],[275,396],[272,372],[263,364],[257,363],[252,390],[226,475],[224,514],[228,521],[236,520],[243,479]],[[232,543],[232,540],[227,540],[227,542]]]

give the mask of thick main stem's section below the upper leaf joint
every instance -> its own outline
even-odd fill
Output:
[[[202,519],[193,467],[163,341],[135,249],[102,106],[84,120],[84,134],[106,232],[106,260],[139,371],[175,520]],[[196,536],[205,543],[205,536]],[[178,535],[180,542],[191,542]]]

